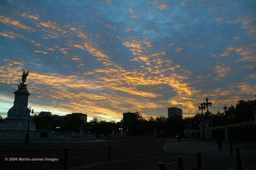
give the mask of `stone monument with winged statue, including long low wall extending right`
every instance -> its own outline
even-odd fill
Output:
[[[30,107],[28,108],[29,91],[27,89],[27,76],[29,71],[22,73],[22,82],[18,84],[13,106],[9,109],[4,122],[0,124],[0,141],[5,142],[29,142],[32,141],[72,141],[72,139],[95,140],[95,134],[81,134],[73,132],[53,132],[52,130],[36,130],[35,124],[30,118]],[[33,110],[32,110],[33,113]],[[81,128],[80,128],[81,129]]]

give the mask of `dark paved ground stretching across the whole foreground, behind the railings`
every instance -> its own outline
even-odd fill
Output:
[[[34,158],[63,158],[63,151],[55,152],[11,152],[13,150],[63,150],[112,147],[112,162],[107,162],[107,156],[94,157],[80,160],[70,160],[69,170],[96,170],[96,169],[159,169],[158,162],[170,163],[177,160],[177,156],[188,157],[197,151],[202,152],[203,169],[235,169],[237,168],[236,155],[229,154],[229,145],[223,145],[223,152],[218,151],[217,144],[211,141],[182,141],[177,142],[165,139],[114,139],[100,140],[98,142],[70,142],[70,143],[0,143],[0,168],[1,169],[63,169],[63,161],[5,161],[11,157]],[[233,147],[255,147],[255,145],[233,145]],[[107,149],[90,151],[70,151],[69,158],[88,155],[105,154]],[[241,151],[242,165],[244,169],[256,169],[256,155],[254,151]],[[192,169],[196,166],[196,160],[184,161],[184,169]],[[168,169],[178,169],[176,166]]]

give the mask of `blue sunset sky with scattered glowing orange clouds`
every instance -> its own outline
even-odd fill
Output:
[[[256,1],[0,1],[0,115],[21,74],[36,113],[198,113],[255,99]]]

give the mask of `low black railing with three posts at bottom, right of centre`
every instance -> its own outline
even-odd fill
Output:
[[[195,158],[195,157],[197,157],[197,167],[193,168],[192,170],[194,170],[194,169],[202,170],[201,152],[197,152],[196,155],[190,156],[190,157],[187,157],[187,158],[184,158],[184,159],[183,159],[183,156],[178,156],[177,161],[169,163],[167,165],[166,165],[165,162],[159,162],[158,166],[159,166],[160,170],[165,170],[165,167],[168,167],[168,166],[171,166],[171,165],[174,165],[174,164],[178,163],[178,170],[183,170],[183,161],[187,160],[187,159]]]

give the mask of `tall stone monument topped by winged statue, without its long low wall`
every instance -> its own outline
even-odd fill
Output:
[[[28,108],[29,91],[27,89],[27,76],[29,71],[22,73],[22,82],[18,84],[14,103],[7,113],[7,117],[0,125],[0,138],[24,138],[27,133],[28,123],[29,131],[35,131],[35,125],[29,117],[30,108]],[[30,120],[29,120],[30,119]],[[28,122],[29,121],[29,122]]]

